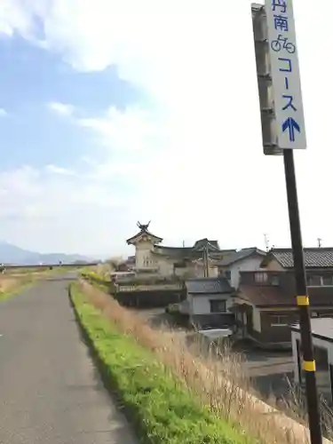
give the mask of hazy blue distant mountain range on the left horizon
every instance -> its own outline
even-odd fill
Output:
[[[0,242],[0,263],[6,265],[34,266],[40,263],[44,265],[58,264],[61,261],[64,264],[73,262],[94,262],[96,259],[87,258],[78,254],[64,253],[37,253],[20,249],[7,242]]]

